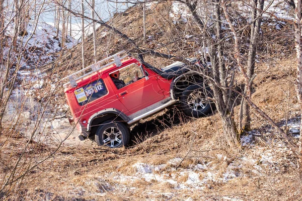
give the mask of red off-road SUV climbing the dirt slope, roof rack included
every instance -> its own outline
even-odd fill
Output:
[[[67,103],[81,140],[95,135],[99,145],[127,145],[131,125],[176,103],[191,117],[212,112],[211,89],[185,63],[158,69],[123,54],[64,78],[68,79],[64,84]],[[201,67],[196,60],[191,62]]]

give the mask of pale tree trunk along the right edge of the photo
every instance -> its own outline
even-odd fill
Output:
[[[297,98],[300,104],[300,112],[302,114],[302,42],[301,42],[301,0],[295,0],[295,23],[294,23],[294,34],[295,34],[295,46],[297,56]],[[299,151],[298,151],[298,167],[300,177],[302,177],[302,116],[300,123],[300,137],[299,137]]]

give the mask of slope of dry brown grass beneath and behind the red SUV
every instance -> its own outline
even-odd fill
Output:
[[[167,5],[160,5],[155,8],[154,15],[148,16],[148,23],[156,21],[159,25],[154,23],[149,26],[152,30],[148,31],[148,35],[152,33],[158,37],[156,33],[160,33],[163,36],[157,38],[157,44],[161,40],[162,43],[172,40],[173,36],[180,33],[179,30],[184,29],[165,21],[165,18],[161,16],[163,14],[161,9],[167,8]],[[128,16],[116,17],[114,21],[116,21],[117,27],[127,33],[133,33],[133,36],[141,36],[142,15],[138,11],[138,8],[132,8],[128,12]],[[168,15],[165,17],[167,18]],[[160,30],[159,27],[165,30]],[[178,31],[175,31],[177,29]],[[100,28],[98,33],[103,31]],[[108,43],[109,39],[114,43]],[[142,41],[141,37],[135,39]],[[92,61],[92,41],[90,39],[88,41],[90,41],[90,45],[86,46],[86,58]],[[128,48],[127,44],[114,35],[107,35],[99,43],[98,56],[100,59],[106,53],[116,52],[116,48],[118,50]],[[154,47],[156,44],[148,45]],[[169,51],[182,54],[185,52],[184,49],[192,52],[195,48],[194,43],[178,45],[181,47],[178,50],[175,45],[170,45]],[[161,50],[168,51],[165,48],[159,49],[159,51]],[[80,45],[72,50],[72,60],[64,61],[63,65],[71,63],[70,66],[74,68],[81,66],[79,53]],[[163,65],[162,60],[150,57],[147,59]],[[285,118],[295,118],[298,114],[293,87],[295,73],[291,63],[290,59],[283,59],[257,65],[253,100],[276,122],[281,122]],[[267,132],[274,134],[266,127],[266,122],[255,113],[253,113],[252,126],[259,129],[263,135]],[[275,147],[279,142],[277,138],[271,140],[271,138],[267,138],[268,136],[257,137],[256,146],[238,153],[223,145],[221,133],[217,114],[198,120],[188,120],[177,110],[164,111],[133,128],[132,134],[135,135],[134,141],[137,144],[133,143],[129,148],[107,149],[97,147],[95,144],[61,148],[54,158],[29,173],[26,181],[30,182],[24,186],[23,190],[18,189],[15,195],[18,197],[23,192],[22,196],[25,199],[33,200],[46,199],[46,196],[67,200],[72,198],[79,200],[185,200],[188,197],[197,200],[223,200],[224,196],[243,200],[297,200],[300,198],[301,183],[297,179],[294,166],[290,165],[290,162],[295,161],[289,151],[277,151]],[[24,141],[26,140],[21,138],[17,140],[16,144],[22,146]],[[267,142],[270,142],[270,145]],[[165,169],[160,170],[161,174],[169,177],[169,175],[185,171],[190,164],[211,162],[210,167],[216,171],[218,176],[222,177],[222,173],[230,163],[240,162],[238,157],[260,161],[261,153],[267,150],[273,150],[274,157],[278,158],[277,163],[267,165],[256,161],[262,168],[261,170],[255,169],[253,165],[244,165],[238,170],[242,176],[226,183],[212,181],[205,184],[203,189],[178,189],[169,183],[165,184],[156,180],[147,182],[143,178],[133,182],[123,182],[117,179],[121,175],[136,176],[132,167],[136,162],[159,165],[167,163],[174,157],[186,157],[186,159],[178,170],[173,169],[173,165],[168,165]],[[48,149],[41,148],[40,154],[35,155],[35,160],[47,153],[49,153]],[[217,154],[226,156],[226,159],[219,160]],[[202,172],[209,171],[202,170]],[[179,175],[176,180],[178,183],[184,183],[187,177],[186,174]]]

